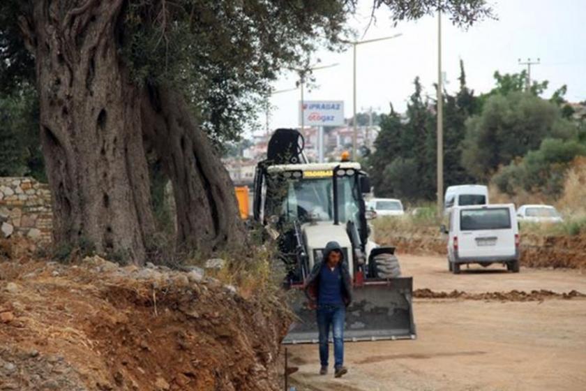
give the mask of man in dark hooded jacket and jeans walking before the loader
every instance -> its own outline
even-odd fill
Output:
[[[344,367],[344,322],[346,307],[352,301],[352,280],[338,242],[328,242],[324,256],[309,275],[305,293],[315,307],[320,332],[320,374],[328,372],[329,330],[333,333],[334,376],[347,373]]]

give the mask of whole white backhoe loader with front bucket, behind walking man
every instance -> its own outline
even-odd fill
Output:
[[[285,286],[297,318],[284,344],[317,343],[315,310],[306,305],[303,283],[332,240],[343,247],[353,281],[345,340],[415,339],[412,277],[400,276],[393,247],[369,239],[373,212],[363,199],[369,192],[359,163],[308,163],[298,131],[278,129],[269,141],[255,172],[253,214],[277,233],[287,269]]]

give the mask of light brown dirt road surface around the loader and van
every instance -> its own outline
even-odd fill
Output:
[[[586,274],[576,270],[474,266],[456,276],[443,257],[400,260],[419,289],[586,293]],[[416,299],[414,315],[416,341],[346,344],[342,379],[317,375],[317,346],[290,346],[297,390],[586,390],[586,299]]]

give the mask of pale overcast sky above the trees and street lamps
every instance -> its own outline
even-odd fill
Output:
[[[467,84],[476,94],[490,90],[493,73],[515,73],[523,69],[518,59],[541,59],[532,66],[532,79],[549,80],[545,96],[567,84],[569,101],[586,100],[586,0],[489,0],[497,20],[485,20],[467,31],[442,18],[442,64],[446,89],[458,89],[459,59],[463,59]],[[359,15],[352,26],[360,34],[368,24],[371,1],[360,1]],[[403,34],[398,38],[359,45],[357,51],[357,110],[372,106],[389,111],[389,102],[403,112],[413,91],[413,80],[421,78],[424,93],[435,95],[437,80],[437,17],[403,22],[392,27],[389,14],[377,13],[377,23],[364,39]],[[350,48],[351,49],[351,48]],[[352,50],[343,53],[317,52],[322,65],[338,66],[314,71],[317,87],[305,91],[306,100],[342,100],[345,117],[352,116]],[[296,75],[283,73],[273,83],[276,90],[295,87]],[[275,94],[270,128],[297,126],[296,91]],[[264,125],[264,115],[261,122]],[[264,127],[263,127],[264,128]]]

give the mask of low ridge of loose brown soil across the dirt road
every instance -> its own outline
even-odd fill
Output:
[[[502,302],[541,302],[546,299],[573,299],[577,297],[584,298],[586,294],[577,290],[571,290],[568,293],[555,293],[551,290],[532,290],[525,292],[523,290],[511,290],[509,292],[486,292],[486,293],[466,293],[462,290],[452,290],[451,292],[435,292],[428,288],[416,289],[413,296],[418,299],[464,299],[464,300],[496,300]]]

